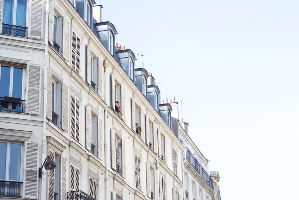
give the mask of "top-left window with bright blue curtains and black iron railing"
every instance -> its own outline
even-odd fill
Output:
[[[2,33],[27,37],[27,0],[3,1]]]

